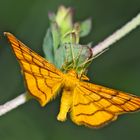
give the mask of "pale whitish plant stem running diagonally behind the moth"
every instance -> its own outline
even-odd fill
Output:
[[[105,49],[107,49],[110,45],[127,35],[129,32],[131,32],[133,29],[135,29],[137,26],[140,25],[140,13],[133,18],[130,22],[128,22],[126,25],[124,25],[122,28],[114,32],[112,35],[107,37],[104,41],[93,47],[93,56],[97,56],[101,52],[103,52]],[[13,110],[14,108],[18,107],[19,105],[22,105],[28,101],[28,95],[27,93],[23,93],[20,96],[16,97],[15,99],[8,101],[4,105],[0,105],[0,116],[3,114],[6,114],[7,112]]]

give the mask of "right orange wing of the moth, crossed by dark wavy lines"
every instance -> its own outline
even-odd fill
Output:
[[[78,125],[101,127],[122,113],[137,110],[140,110],[140,97],[80,82],[74,91],[71,118]]]

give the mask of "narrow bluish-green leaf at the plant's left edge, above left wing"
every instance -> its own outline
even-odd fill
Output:
[[[54,63],[53,39],[50,29],[47,30],[44,37],[43,52],[45,54],[45,58],[51,63]]]

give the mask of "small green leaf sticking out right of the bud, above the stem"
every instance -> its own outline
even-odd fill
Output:
[[[80,25],[80,37],[88,35],[91,31],[92,22],[91,19],[83,21]]]

